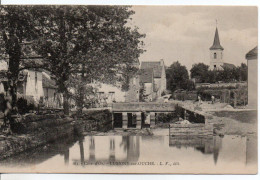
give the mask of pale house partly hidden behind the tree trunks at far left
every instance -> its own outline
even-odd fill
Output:
[[[0,61],[0,93],[6,92],[8,62]],[[57,93],[55,82],[43,70],[25,69],[19,74],[17,85],[18,98],[32,97],[38,104],[41,100],[46,107],[61,107],[62,97]]]

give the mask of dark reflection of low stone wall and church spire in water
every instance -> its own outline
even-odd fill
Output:
[[[217,164],[222,138],[219,136],[173,136],[169,138],[169,146],[181,148],[193,147],[203,154],[213,154],[214,163]]]

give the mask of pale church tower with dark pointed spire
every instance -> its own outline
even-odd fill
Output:
[[[210,70],[222,70],[224,65],[223,50],[224,48],[220,45],[218,28],[216,27],[215,37],[213,45],[209,48],[210,50]]]

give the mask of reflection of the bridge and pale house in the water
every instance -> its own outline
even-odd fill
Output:
[[[107,139],[106,139],[107,138]],[[88,158],[86,158],[83,140],[79,141],[80,146],[80,159],[74,159],[73,161],[81,162],[82,165],[100,162],[102,164],[110,164],[111,162],[137,162],[140,155],[140,137],[139,136],[123,136],[121,141],[117,141],[115,137],[103,137],[96,139],[95,137],[89,137],[88,143]],[[106,154],[106,144],[109,142],[108,154]],[[102,146],[97,147],[96,144],[101,143]],[[120,149],[123,149],[124,158],[117,158],[116,154],[119,154]],[[102,149],[100,149],[102,148]],[[98,157],[102,152],[102,158]],[[107,157],[104,157],[104,155]]]

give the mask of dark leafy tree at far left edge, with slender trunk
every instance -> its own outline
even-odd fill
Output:
[[[26,52],[23,44],[35,38],[33,15],[29,6],[0,6],[0,48],[2,58],[7,59],[7,105],[5,115],[12,126],[11,114],[17,113],[17,83]],[[0,38],[1,39],[1,38]]]

